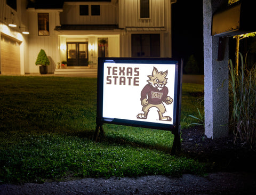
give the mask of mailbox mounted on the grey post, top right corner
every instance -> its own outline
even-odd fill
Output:
[[[235,36],[256,31],[253,1],[244,0],[218,10],[212,17],[213,36]]]

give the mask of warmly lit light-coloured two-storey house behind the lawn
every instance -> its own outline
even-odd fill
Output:
[[[54,74],[86,74],[97,69],[100,56],[172,56],[175,0],[36,2],[1,0],[1,74],[39,74],[35,61],[41,49]],[[63,61],[67,66],[58,69]]]

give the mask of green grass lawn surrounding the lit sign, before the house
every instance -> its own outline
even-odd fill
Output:
[[[183,84],[182,128],[203,112],[200,92]],[[94,142],[96,96],[95,78],[0,76],[0,183],[204,173],[170,155],[171,132],[106,124]]]

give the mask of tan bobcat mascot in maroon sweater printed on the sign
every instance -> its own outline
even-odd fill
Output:
[[[159,120],[172,121],[169,116],[163,116],[166,111],[163,102],[171,104],[173,99],[168,96],[168,88],[165,86],[167,83],[167,70],[165,72],[158,72],[154,67],[152,75],[149,75],[147,80],[148,84],[141,91],[141,105],[144,113],[139,113],[137,118],[147,119],[150,108],[156,107],[158,110]]]

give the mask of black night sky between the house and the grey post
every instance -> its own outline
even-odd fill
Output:
[[[172,4],[172,55],[184,65],[194,55],[203,74],[203,0],[177,0]]]

